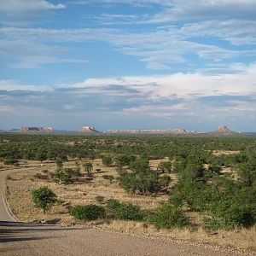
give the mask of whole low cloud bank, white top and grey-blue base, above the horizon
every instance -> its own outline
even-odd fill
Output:
[[[215,125],[235,120],[244,127],[252,126],[256,120],[256,64],[232,68],[240,73],[86,79],[51,87],[1,80],[0,112],[20,116],[20,109],[26,109],[33,116],[36,109],[38,116],[68,112],[74,118],[94,113],[110,119],[118,116],[119,122],[154,118],[179,124],[182,120],[190,124],[188,129],[195,120],[211,124],[213,119]]]

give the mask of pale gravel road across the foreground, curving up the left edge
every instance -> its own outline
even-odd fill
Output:
[[[168,255],[231,256],[256,255],[232,248],[175,241],[154,236],[137,236],[111,230],[61,227],[15,222],[3,197],[0,172],[0,255]],[[22,172],[25,172],[23,170]]]

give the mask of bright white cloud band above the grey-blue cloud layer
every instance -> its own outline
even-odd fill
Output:
[[[0,80],[0,90],[64,90],[82,96],[143,96],[145,101],[183,98],[192,100],[201,96],[252,96],[256,97],[256,64],[233,64],[230,69],[240,73],[209,75],[206,73],[174,73],[165,76],[128,76],[120,78],[85,79],[81,83],[38,86],[20,84],[13,80]],[[182,105],[178,105],[182,106]]]

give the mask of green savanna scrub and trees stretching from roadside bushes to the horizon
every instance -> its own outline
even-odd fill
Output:
[[[55,172],[49,183],[67,186],[93,183],[96,173],[102,172],[94,161],[101,159],[102,166],[114,168],[117,175],[101,177],[118,183],[128,195],[168,195],[150,210],[99,196],[96,204],[69,208],[79,220],[125,219],[172,229],[193,225],[189,213],[194,212],[209,230],[256,223],[255,137],[5,134],[0,135],[0,158],[4,165],[16,166],[20,160],[52,161]],[[70,160],[76,161],[72,168],[65,166]],[[152,160],[159,160],[154,168]],[[227,168],[232,172],[224,172]]]

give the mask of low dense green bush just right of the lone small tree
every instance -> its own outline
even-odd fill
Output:
[[[105,209],[96,205],[78,205],[71,208],[70,215],[79,220],[95,220],[105,217]]]

